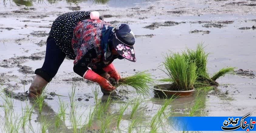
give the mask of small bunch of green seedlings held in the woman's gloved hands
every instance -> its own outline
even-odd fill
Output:
[[[152,84],[153,79],[151,78],[151,75],[149,73],[146,73],[145,71],[138,72],[135,75],[121,78],[118,81],[118,84],[115,86],[131,86],[132,88],[135,88],[137,93],[144,93],[147,94],[149,92],[149,86],[148,84]]]

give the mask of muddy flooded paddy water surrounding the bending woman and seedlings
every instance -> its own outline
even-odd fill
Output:
[[[256,74],[254,59],[256,29],[252,27],[256,25],[256,8],[248,5],[255,3],[253,1],[246,1],[244,4],[247,5],[239,2],[239,0],[235,2],[230,0],[221,2],[213,0],[0,1],[0,83],[2,88],[8,88],[15,93],[27,91],[35,76],[32,74],[33,71],[43,64],[47,33],[54,19],[62,13],[73,10],[98,10],[108,22],[128,23],[137,35],[135,46],[137,62],[114,61],[121,76],[148,70],[156,79],[165,77],[166,75],[158,68],[166,52],[169,50],[181,52],[184,48],[195,48],[197,43],[204,42],[207,46],[206,51],[211,53],[207,65],[210,74],[226,66],[237,67],[237,70],[250,70],[249,76],[226,75],[218,79],[220,84],[227,85],[219,86],[205,95],[206,107],[202,110],[204,114],[243,116],[251,112],[255,116],[256,81],[252,75]],[[92,89],[98,85],[80,79],[73,72],[73,61],[65,59],[56,77],[47,86],[48,97],[45,99],[42,115],[39,115],[38,109],[33,110],[29,124],[33,126],[35,132],[40,131],[42,118],[46,118],[51,125],[55,121],[59,99],[58,96],[51,96],[49,93],[62,95],[61,101],[70,105],[68,93],[74,82],[77,114],[83,116],[81,121],[85,121],[90,108],[95,105]],[[132,99],[141,97],[131,88],[124,89],[128,91],[118,92],[120,99],[111,103],[109,111],[118,111],[121,101],[129,103]],[[119,90],[122,88],[118,88]],[[100,93],[98,98],[104,101],[106,96]],[[154,98],[153,91],[145,98],[150,101],[144,101],[139,111],[143,113],[136,115],[148,123],[163,101]],[[171,106],[173,114],[187,115],[194,99],[195,96],[177,98]],[[1,100],[0,105],[2,102]],[[33,105],[31,99],[25,101],[15,99],[14,103],[13,111],[18,115],[21,114],[26,103],[29,106]],[[68,117],[69,108],[66,113]],[[129,116],[129,113],[130,110],[127,110],[125,116]],[[0,114],[4,117],[2,110]],[[127,131],[130,121],[125,117],[121,122],[123,131]],[[100,122],[95,121],[94,126],[99,126],[98,123]],[[55,130],[53,128],[49,126],[49,132],[53,132]],[[26,128],[26,131],[30,130]],[[63,122],[61,130],[72,132],[68,118]]]

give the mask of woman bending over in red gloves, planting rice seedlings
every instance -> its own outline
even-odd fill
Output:
[[[29,88],[31,97],[40,95],[66,56],[74,60],[75,73],[99,83],[106,91],[115,89],[105,76],[100,75],[108,73],[116,81],[120,79],[112,62],[116,58],[136,61],[135,38],[128,25],[114,27],[100,19],[91,20],[90,12],[69,12],[53,22],[47,38],[45,61],[42,68],[36,69],[36,78]]]

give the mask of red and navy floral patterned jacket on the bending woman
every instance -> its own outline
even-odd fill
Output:
[[[101,38],[104,25],[110,25],[103,20],[86,19],[78,22],[73,31],[71,45],[76,55],[74,71],[83,77],[88,67],[102,69],[116,58],[103,60]]]

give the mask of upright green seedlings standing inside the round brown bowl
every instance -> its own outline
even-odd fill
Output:
[[[163,65],[167,72],[163,71],[168,75],[168,78],[161,79],[161,81],[172,82],[170,90],[188,91],[194,88],[197,78],[195,63],[188,62],[179,53],[173,53],[164,57]]]

